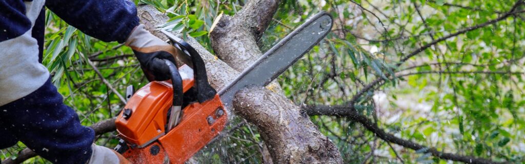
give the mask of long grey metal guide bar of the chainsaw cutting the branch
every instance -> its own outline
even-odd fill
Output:
[[[332,17],[321,12],[281,39],[274,47],[243,70],[237,78],[219,91],[220,100],[232,106],[235,93],[247,86],[264,87],[299,60],[332,29]]]

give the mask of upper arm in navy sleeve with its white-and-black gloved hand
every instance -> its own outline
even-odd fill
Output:
[[[82,32],[104,42],[118,41],[133,49],[148,80],[167,80],[177,50],[139,25],[137,8],[127,0],[48,0],[46,6]]]

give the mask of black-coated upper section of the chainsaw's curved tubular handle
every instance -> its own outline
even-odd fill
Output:
[[[182,86],[182,77],[178,73],[177,66],[168,59],[164,59],[164,63],[170,68],[170,77],[171,84],[173,86],[173,105],[172,106],[182,106],[183,100],[183,86]]]

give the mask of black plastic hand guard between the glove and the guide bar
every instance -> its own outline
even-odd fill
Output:
[[[166,34],[167,35],[167,34]],[[201,58],[201,55],[188,43],[184,42],[181,38],[170,36],[168,38],[171,40],[171,44],[180,49],[181,52],[184,52],[186,55],[192,58],[193,64],[193,75],[195,80],[194,88],[197,93],[198,102],[202,103],[204,101],[213,99],[217,94],[217,91],[209,85],[208,76],[206,74],[206,66],[204,65],[204,60]]]

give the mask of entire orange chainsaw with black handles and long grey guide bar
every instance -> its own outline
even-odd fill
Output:
[[[203,59],[181,38],[161,30],[177,56],[191,63],[177,67],[169,60],[171,80],[151,81],[136,92],[126,90],[127,103],[117,117],[115,150],[132,163],[184,163],[211,142],[228,121],[235,93],[247,86],[266,86],[306,54],[332,27],[321,12],[281,39],[220,91],[209,83]]]

